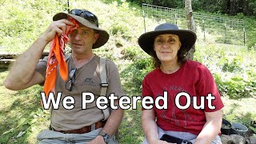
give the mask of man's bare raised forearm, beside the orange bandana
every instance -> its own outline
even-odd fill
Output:
[[[45,39],[39,37],[26,52],[18,57],[6,77],[5,86],[7,88],[18,90],[19,86],[30,82],[46,45]]]

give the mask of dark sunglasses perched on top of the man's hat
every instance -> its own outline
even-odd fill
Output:
[[[96,15],[92,14],[90,11],[74,9],[70,11],[70,14],[74,14],[79,17],[86,18],[87,20],[89,20],[90,22],[93,22],[98,26],[98,18],[96,17]]]

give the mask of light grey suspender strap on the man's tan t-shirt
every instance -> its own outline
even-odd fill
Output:
[[[101,96],[106,97],[106,90],[109,86],[109,84],[106,81],[106,59],[105,58],[99,58],[99,74],[101,78]],[[110,107],[108,106],[105,110],[102,110],[104,114],[103,121],[106,121],[107,118],[110,117]]]

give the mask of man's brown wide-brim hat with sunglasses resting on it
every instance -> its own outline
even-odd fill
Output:
[[[58,21],[60,19],[65,19],[68,16],[74,18],[75,20],[80,22],[83,26],[87,26],[91,29],[98,31],[99,37],[98,37],[98,40],[94,43],[93,49],[96,49],[98,47],[105,45],[106,42],[109,40],[110,34],[108,34],[106,30],[102,30],[98,27],[97,16],[88,10],[74,9],[74,10],[71,10],[69,14],[58,13],[54,15],[53,20]]]

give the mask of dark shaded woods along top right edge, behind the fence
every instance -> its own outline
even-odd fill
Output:
[[[166,6],[170,8],[182,8],[184,0],[130,0],[136,2],[140,6],[142,3],[147,3],[156,6]],[[221,13],[236,15],[242,13],[248,16],[256,15],[256,2],[254,0],[240,0],[240,1],[227,1],[227,0],[193,0],[193,10],[208,11],[211,13]]]

